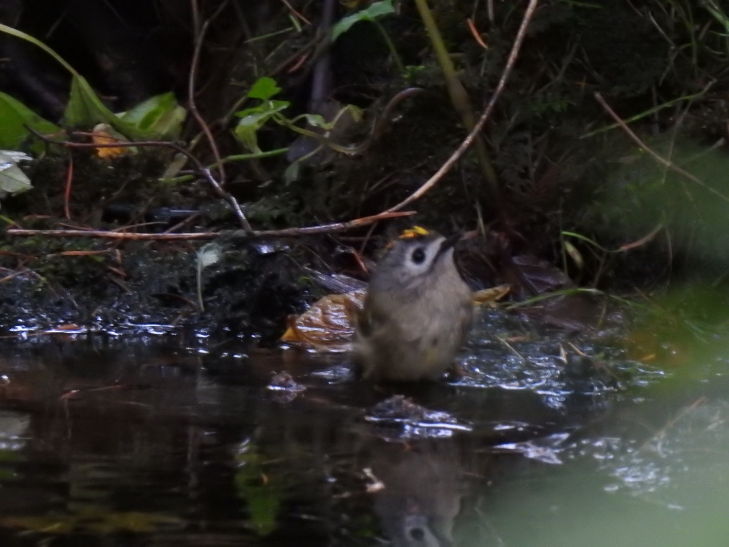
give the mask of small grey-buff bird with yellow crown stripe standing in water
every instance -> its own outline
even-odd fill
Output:
[[[356,316],[354,362],[365,379],[438,379],[452,365],[473,316],[473,293],[453,260],[461,234],[419,226],[391,244]]]

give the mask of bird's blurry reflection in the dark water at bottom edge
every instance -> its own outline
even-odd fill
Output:
[[[453,546],[453,521],[465,487],[459,449],[453,440],[408,446],[379,441],[372,470],[384,487],[375,513],[396,547]]]

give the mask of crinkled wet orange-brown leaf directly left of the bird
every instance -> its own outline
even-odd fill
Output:
[[[289,319],[281,341],[320,352],[346,351],[354,333],[354,315],[365,293],[360,289],[316,300],[299,317]]]

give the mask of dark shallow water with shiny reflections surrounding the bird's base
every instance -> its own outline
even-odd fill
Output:
[[[7,342],[0,545],[725,545],[722,352],[607,338],[489,312],[464,376],[405,387],[182,335]]]

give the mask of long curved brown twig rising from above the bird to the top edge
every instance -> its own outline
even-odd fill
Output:
[[[499,98],[499,96],[502,93],[502,90],[504,90],[504,86],[506,85],[507,79],[509,78],[509,75],[511,74],[512,68],[514,66],[514,63],[516,62],[516,58],[518,56],[519,50],[521,49],[521,44],[524,41],[524,36],[526,34],[526,27],[529,26],[529,21],[531,20],[532,15],[534,15],[534,10],[537,9],[537,4],[539,4],[539,0],[529,0],[529,5],[526,7],[526,12],[524,12],[524,17],[521,20],[521,26],[519,27],[519,31],[516,34],[516,38],[514,40],[514,44],[511,48],[511,53],[509,54],[509,59],[507,60],[506,66],[504,67],[504,72],[502,73],[501,79],[499,79],[499,85],[496,86],[496,90],[494,91],[494,95],[491,96],[491,100],[488,101],[488,105],[486,106],[486,110],[483,112],[481,117],[476,122],[476,125],[471,130],[471,132],[468,134],[468,136],[464,139],[463,142],[461,142],[461,145],[456,148],[456,151],[451,154],[451,157],[448,158],[448,160],[445,160],[445,163],[443,163],[443,166],[440,166],[440,169],[438,169],[433,176],[431,176],[426,182],[421,185],[421,187],[418,188],[415,192],[410,194],[407,198],[402,200],[400,203],[397,203],[396,206],[390,207],[390,209],[387,209],[387,213],[391,213],[394,211],[399,211],[399,209],[402,209],[406,205],[412,203],[413,201],[416,201],[416,199],[421,198],[424,193],[426,193],[428,190],[430,190],[440,179],[445,176],[448,171],[451,170],[453,167],[453,164],[458,161],[462,155],[464,155],[464,152],[468,150],[468,148],[471,146],[473,141],[477,138],[480,131],[483,129],[483,126],[486,124],[486,120],[488,120],[488,117],[491,115],[491,112],[494,110],[494,106],[496,106],[496,99]]]

